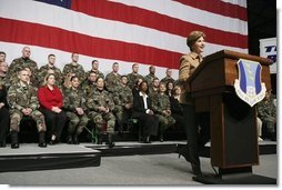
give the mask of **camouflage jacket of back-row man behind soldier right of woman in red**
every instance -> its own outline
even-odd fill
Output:
[[[63,81],[69,81],[70,79],[68,79],[69,74],[70,73],[73,73],[75,76],[79,77],[79,80],[80,81],[84,81],[85,80],[85,72],[83,70],[83,67],[81,64],[77,64],[77,66],[73,66],[72,63],[68,63],[63,67],[63,70],[62,70],[62,74],[63,74]]]

